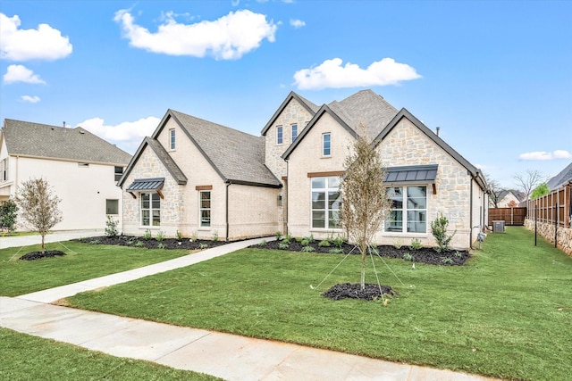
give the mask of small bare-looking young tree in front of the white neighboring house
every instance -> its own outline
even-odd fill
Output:
[[[15,200],[21,211],[21,220],[42,236],[42,253],[46,252],[46,234],[62,220],[62,212],[58,208],[59,197],[52,194],[47,180],[30,178],[21,183]]]

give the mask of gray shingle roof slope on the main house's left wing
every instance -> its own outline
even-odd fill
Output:
[[[265,137],[169,110],[189,138],[211,162],[224,181],[260,186],[282,186],[265,166]],[[160,128],[154,137],[158,136]]]

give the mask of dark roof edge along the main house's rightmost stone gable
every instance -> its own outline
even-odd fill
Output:
[[[476,181],[478,182],[479,186],[481,186],[482,189],[484,190],[486,189],[486,181],[484,180],[484,175],[481,172],[481,170],[478,170],[473,164],[468,162],[467,159],[461,156],[450,145],[445,143],[445,141],[441,137],[438,137],[431,130],[431,128],[425,126],[425,124],[423,124],[421,120],[418,120],[411,112],[408,112],[408,110],[405,108],[401,109],[400,112],[398,112],[397,115],[393,117],[393,119],[389,122],[389,124],[385,128],[383,128],[382,132],[380,132],[379,135],[375,137],[373,145],[374,146],[379,145],[382,142],[382,140],[385,137],[387,137],[387,135],[391,132],[391,130],[395,128],[395,126],[397,126],[397,124],[403,118],[408,119],[411,123],[414,124],[414,126],[416,126],[416,128],[419,128],[421,132],[423,132],[427,137],[433,140],[433,142],[436,145],[439,145],[446,153],[449,153],[453,159],[455,159],[459,164],[461,164],[463,167],[467,169],[467,171],[476,179]]]

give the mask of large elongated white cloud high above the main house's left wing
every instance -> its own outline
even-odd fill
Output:
[[[129,10],[116,12],[114,21],[121,24],[131,46],[159,54],[195,57],[210,54],[217,60],[236,60],[257,49],[264,39],[273,42],[278,28],[273,21],[267,22],[264,14],[248,10],[194,24],[178,23],[172,13],[166,13],[166,20],[156,33],[135,24]]]

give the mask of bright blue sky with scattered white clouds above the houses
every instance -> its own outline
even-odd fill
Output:
[[[259,135],[371,88],[501,185],[572,162],[572,2],[0,3],[0,118],[134,153],[167,109]]]

